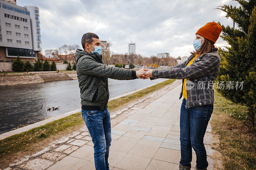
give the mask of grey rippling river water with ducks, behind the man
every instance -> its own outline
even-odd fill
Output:
[[[110,98],[162,81],[108,79]],[[48,108],[59,110],[47,111]],[[0,87],[0,134],[81,108],[78,80]]]

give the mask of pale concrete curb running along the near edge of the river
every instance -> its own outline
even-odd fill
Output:
[[[125,93],[123,95],[119,95],[119,96],[116,96],[116,97],[112,97],[110,98],[108,101],[111,101],[111,100],[115,100],[117,98],[120,98],[120,97],[124,97],[124,96],[127,96],[127,95],[130,95],[130,94],[133,94],[133,93],[136,93],[140,90],[143,90],[143,89],[146,89],[148,87],[151,87],[151,86],[154,86],[156,84],[159,84],[161,82],[164,82],[166,80],[163,80],[163,81],[160,81],[160,82],[157,82],[155,84],[152,84],[150,86],[147,86],[147,87],[144,87],[144,88],[141,88],[141,89],[138,89],[138,90],[134,90],[134,91],[131,91],[129,93]],[[0,134],[0,140],[3,140],[4,138],[7,138],[7,137],[10,137],[12,135],[16,135],[16,134],[19,134],[19,133],[22,133],[22,132],[25,132],[25,131],[28,131],[30,129],[33,129],[35,127],[38,127],[38,126],[42,126],[44,124],[48,124],[50,122],[53,122],[55,120],[58,120],[58,119],[61,119],[61,118],[64,118],[64,117],[67,117],[67,116],[70,116],[72,114],[75,114],[77,112],[80,112],[81,111],[81,108],[80,109],[76,109],[76,110],[73,110],[73,111],[70,111],[70,112],[67,112],[67,113],[63,113],[61,115],[58,115],[58,116],[55,116],[55,117],[51,117],[49,119],[45,119],[45,120],[42,120],[40,122],[36,122],[34,124],[29,124],[28,126],[24,126],[24,127],[21,127],[21,128],[18,128],[18,129],[15,129],[15,130],[12,130],[12,131],[8,131],[8,132],[5,132],[3,134]]]

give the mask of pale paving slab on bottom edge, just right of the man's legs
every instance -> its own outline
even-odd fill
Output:
[[[116,167],[125,170],[145,170],[150,160],[150,158],[127,154],[118,162]]]

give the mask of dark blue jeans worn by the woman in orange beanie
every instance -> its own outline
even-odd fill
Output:
[[[204,148],[204,134],[212,115],[213,104],[185,108],[183,98],[180,108],[180,151],[182,166],[191,166],[192,147],[196,152],[196,166],[200,169],[208,167]]]

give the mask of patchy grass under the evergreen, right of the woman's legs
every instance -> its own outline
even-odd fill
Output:
[[[216,91],[216,90],[215,90]],[[216,148],[225,170],[256,169],[256,133],[246,126],[247,107],[214,93],[212,131],[219,134]]]

